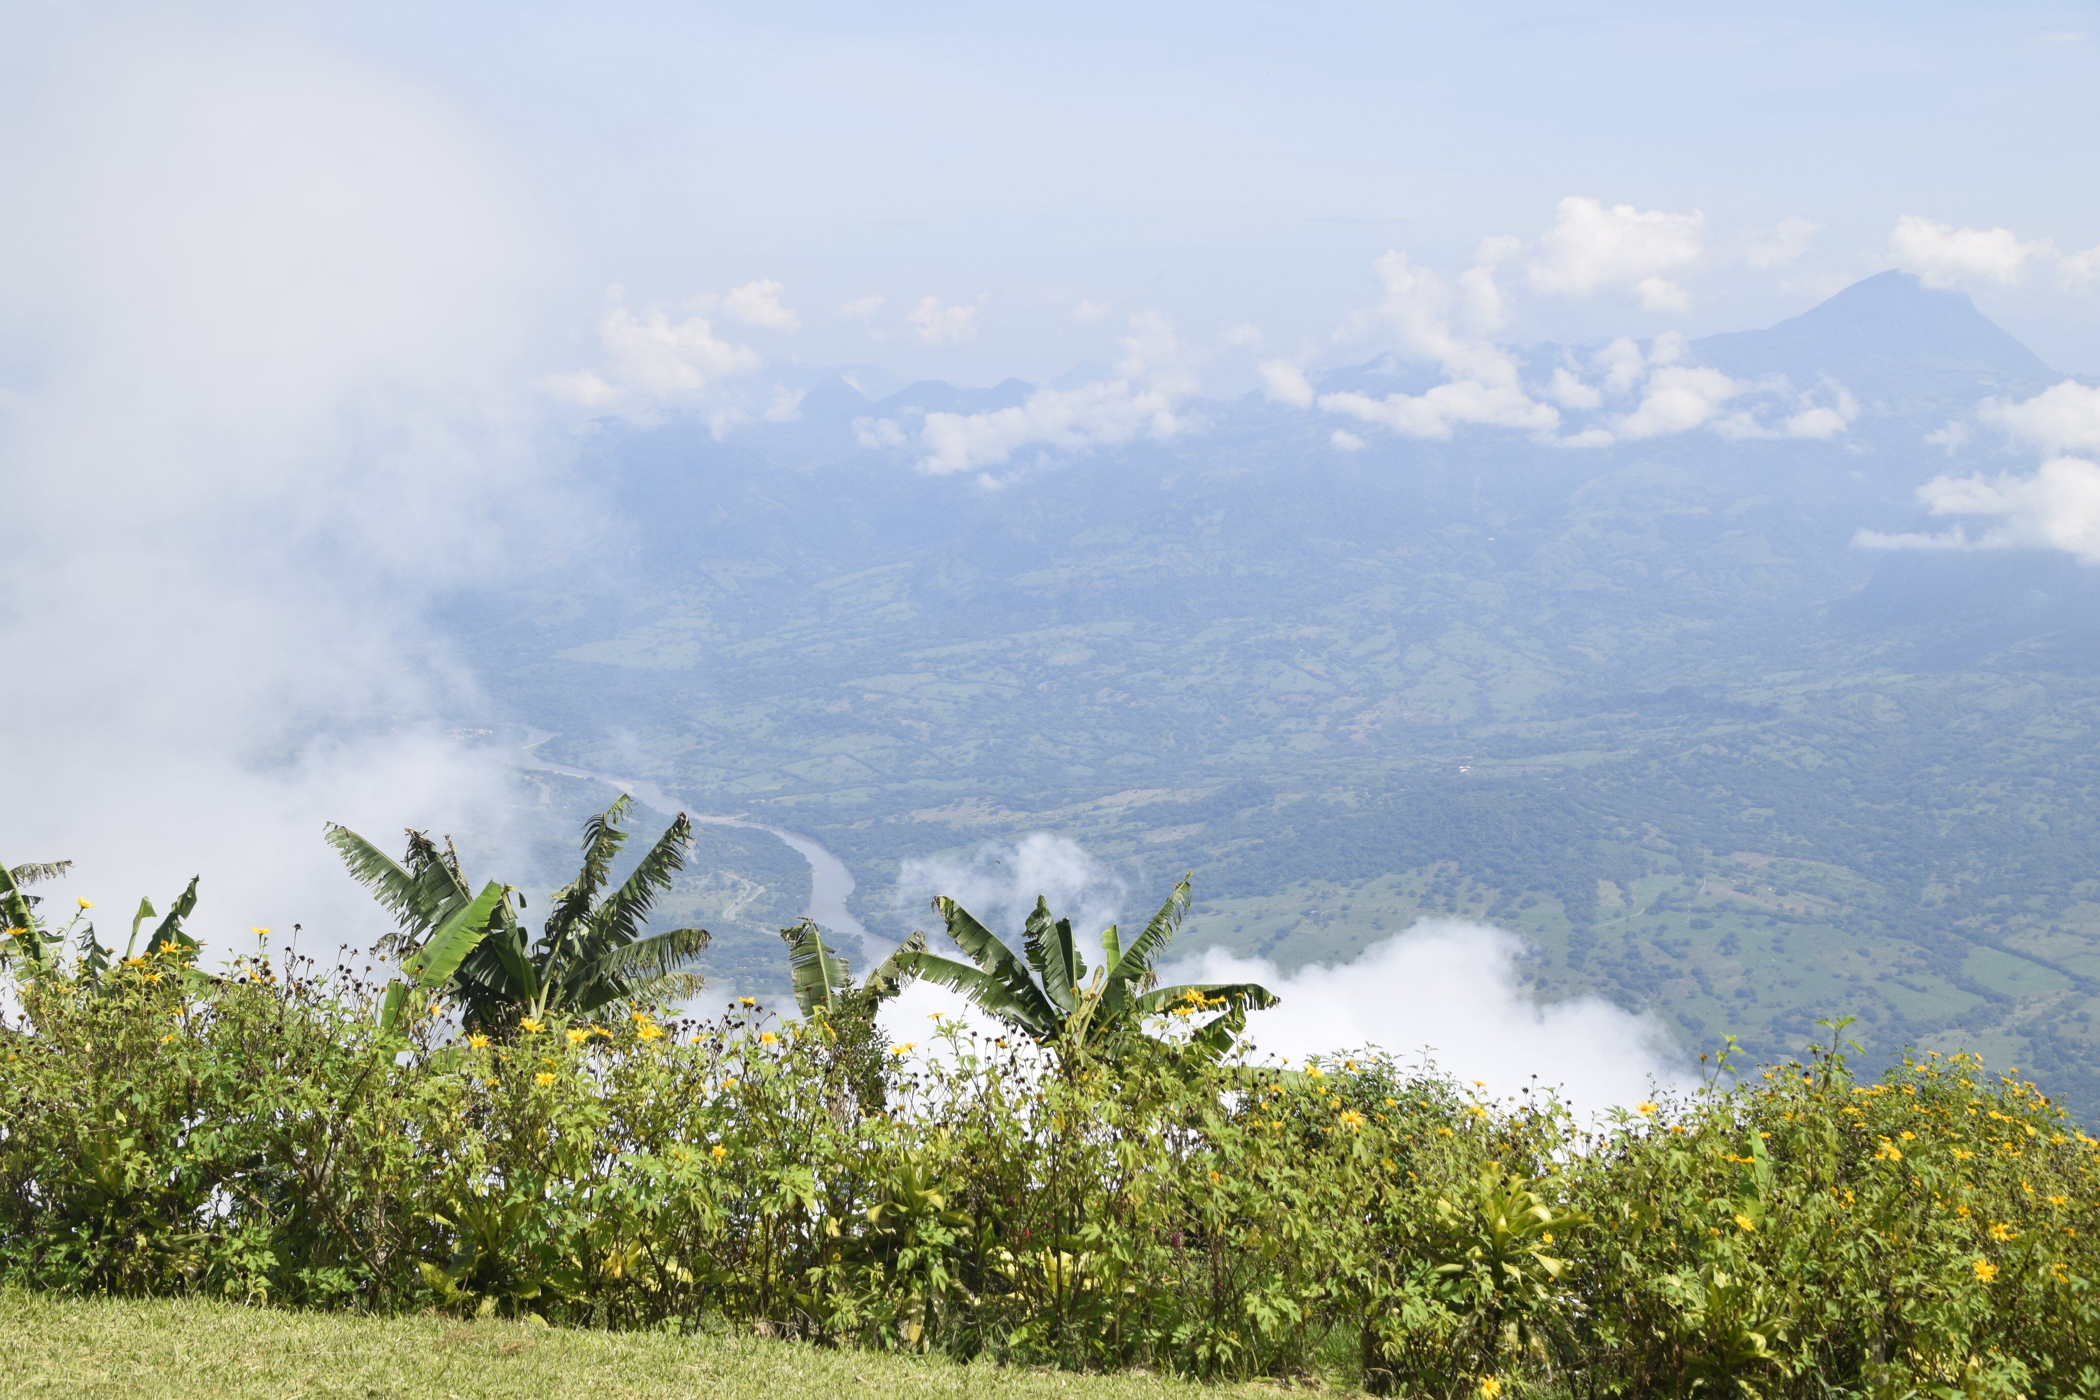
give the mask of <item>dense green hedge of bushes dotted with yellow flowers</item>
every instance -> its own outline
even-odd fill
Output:
[[[386,1033],[346,976],[187,957],[19,989],[8,1280],[1430,1396],[2100,1394],[2096,1144],[1974,1060],[1581,1129],[1373,1054],[939,1022],[869,1094],[821,1018]]]

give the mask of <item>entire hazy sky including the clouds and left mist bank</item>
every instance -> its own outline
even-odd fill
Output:
[[[1840,395],[1749,403],[1678,346],[1892,267],[2100,374],[2096,36],[2094,4],[15,0],[0,858],[124,898],[202,869],[281,926],[355,896],[323,819],[489,829],[433,617],[588,544],[594,416],[737,432],[823,367],[1092,363],[869,449],[985,481],[1250,390],[1338,449],[1833,437]],[[1497,346],[1539,340],[1588,378],[1518,386]],[[1380,353],[1451,393],[1315,401]],[[2100,445],[2100,397],[2043,409]],[[2075,495],[2100,554],[2100,468],[2020,489],[1932,506]]]

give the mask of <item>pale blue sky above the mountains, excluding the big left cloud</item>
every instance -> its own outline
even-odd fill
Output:
[[[1512,336],[1766,321],[1888,267],[1905,214],[2100,243],[2092,4],[359,6],[307,34],[441,94],[580,288],[769,277],[815,309],[798,353],[979,380],[1105,342],[1077,302],[1327,336],[1388,248],[1455,271],[1567,195],[1701,212],[1688,311],[1558,300]],[[1785,218],[1821,225],[1800,258],[1743,267]],[[1968,281],[2100,367],[2092,294]],[[825,315],[878,294],[981,298],[976,336]]]

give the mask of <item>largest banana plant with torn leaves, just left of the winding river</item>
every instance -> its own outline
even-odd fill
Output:
[[[519,919],[525,896],[496,879],[477,894],[449,840],[441,848],[422,831],[410,831],[407,852],[397,863],[349,827],[330,825],[330,846],[395,917],[380,953],[401,959],[401,976],[386,989],[380,1022],[397,1026],[410,993],[443,997],[466,1024],[483,1028],[697,993],[695,963],[708,947],[708,930],[643,932],[651,907],[685,867],[691,821],[680,812],[634,873],[607,892],[628,840],[622,823],[630,806],[622,796],[584,823],[582,869],[554,892],[538,940]]]

